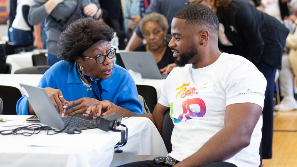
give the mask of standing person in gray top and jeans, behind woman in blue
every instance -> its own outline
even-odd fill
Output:
[[[76,12],[79,10],[81,12]],[[76,16],[74,16],[75,13]],[[34,0],[28,19],[32,25],[40,24],[45,20],[48,48],[47,65],[53,65],[60,61],[57,57],[56,45],[69,19],[82,17],[99,19],[101,14],[98,0]]]

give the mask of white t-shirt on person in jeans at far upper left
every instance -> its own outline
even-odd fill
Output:
[[[18,0],[17,2],[17,13],[15,15],[15,19],[13,20],[12,27],[15,29],[20,29],[24,31],[31,31],[31,28],[26,23],[23,17],[22,8],[24,5],[31,6],[33,0]]]

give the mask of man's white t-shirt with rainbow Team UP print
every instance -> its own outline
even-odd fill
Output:
[[[161,89],[158,101],[170,107],[174,128],[172,152],[184,160],[224,127],[226,106],[255,103],[263,108],[266,79],[247,59],[222,53],[216,62],[194,69],[192,64],[174,68]],[[260,165],[262,117],[252,133],[250,145],[226,162],[238,167]]]

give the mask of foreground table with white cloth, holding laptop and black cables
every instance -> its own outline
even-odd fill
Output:
[[[8,116],[0,117],[5,119]],[[26,119],[29,116],[11,117]],[[121,123],[129,130],[128,142],[121,147],[123,152],[119,154],[114,153],[114,146],[121,139],[120,133],[97,128],[83,130],[81,134],[75,135],[60,133],[47,136],[45,131],[30,137],[0,135],[0,166],[107,167],[167,155],[159,132],[148,118],[124,118]],[[4,124],[0,122],[0,130],[15,128],[4,127]],[[24,123],[29,124],[26,121]]]

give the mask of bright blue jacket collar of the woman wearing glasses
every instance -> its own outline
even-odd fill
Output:
[[[102,86],[102,89],[104,89],[107,92],[109,92],[110,89],[111,89],[112,76],[113,76],[114,70],[115,69],[113,68],[111,76],[108,79],[101,79],[100,80],[100,84]],[[79,75],[78,75],[78,71],[77,71],[77,68],[76,68],[76,62],[74,63],[74,67],[69,68],[67,83],[68,84],[70,84],[70,83],[81,83]]]

